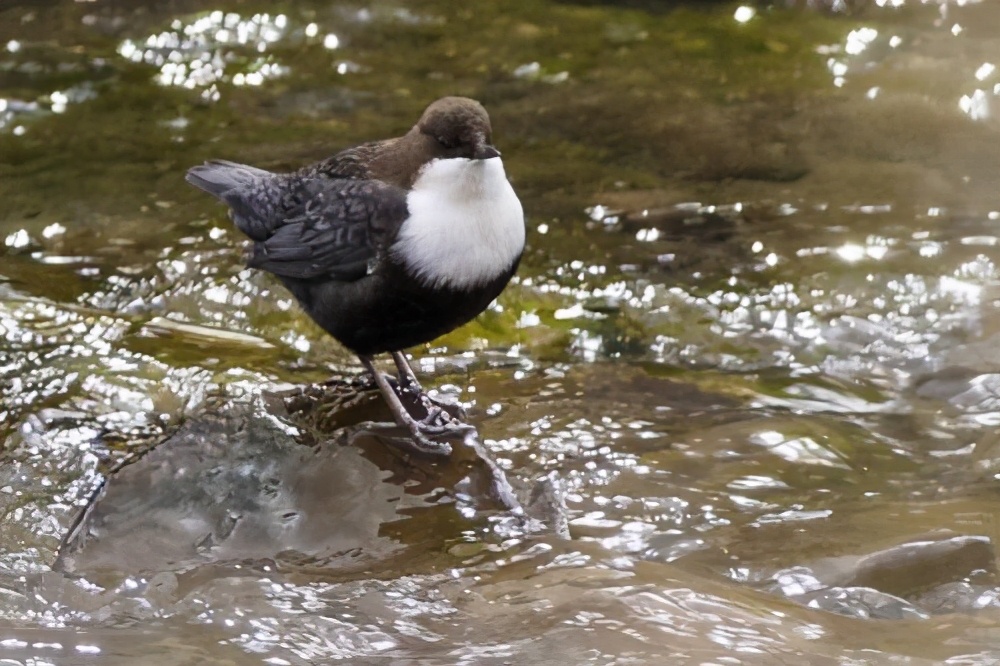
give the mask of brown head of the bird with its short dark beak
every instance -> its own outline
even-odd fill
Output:
[[[432,103],[416,129],[431,140],[428,143],[438,157],[482,160],[500,155],[493,147],[486,109],[468,97],[442,97]]]

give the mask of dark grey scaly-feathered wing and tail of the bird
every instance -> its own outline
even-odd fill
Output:
[[[248,265],[295,280],[357,280],[407,216],[406,193],[377,180],[278,175],[209,162],[188,182],[231,209],[253,239]]]

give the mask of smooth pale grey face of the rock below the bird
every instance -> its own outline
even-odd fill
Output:
[[[399,549],[379,530],[413,502],[383,476],[357,449],[303,446],[263,410],[228,405],[109,479],[60,563],[161,571],[295,551],[363,566]]]

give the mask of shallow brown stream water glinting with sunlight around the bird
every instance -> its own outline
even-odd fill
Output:
[[[1000,660],[1000,8],[649,4],[0,4],[0,662]],[[279,447],[55,570],[116,463],[358,369],[184,170],[451,93],[529,249],[414,357],[571,539]],[[273,514],[194,542],[268,474]]]

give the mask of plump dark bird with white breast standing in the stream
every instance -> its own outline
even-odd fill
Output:
[[[517,271],[524,211],[493,146],[489,114],[467,97],[431,103],[403,136],[346,148],[289,173],[212,160],[187,182],[229,207],[266,271],[322,329],[357,355],[397,424],[401,444],[447,456],[441,410],[403,353],[471,321]],[[374,365],[391,354],[414,418]]]

